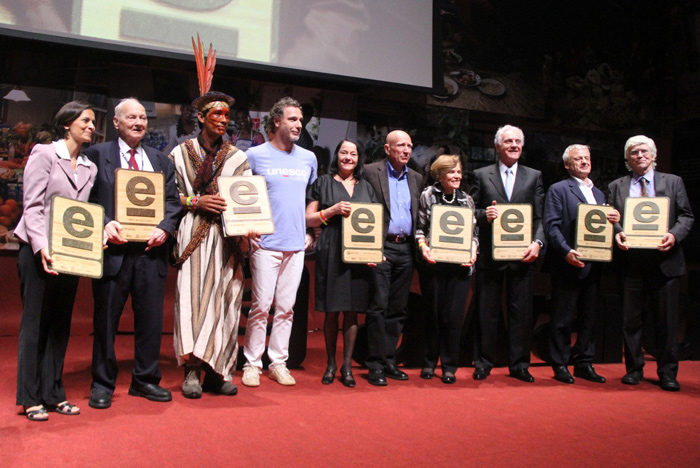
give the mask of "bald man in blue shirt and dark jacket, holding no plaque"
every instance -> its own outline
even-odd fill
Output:
[[[406,305],[413,277],[413,234],[422,188],[420,174],[406,164],[413,143],[408,133],[394,130],[386,137],[387,158],[369,164],[365,177],[377,200],[384,205],[384,262],[372,269],[374,297],[365,324],[369,353],[369,383],[385,386],[386,377],[408,380],[396,366],[396,346],[406,320]]]

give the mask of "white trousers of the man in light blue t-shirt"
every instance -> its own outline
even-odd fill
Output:
[[[270,308],[274,302],[275,314],[267,355],[270,369],[284,364],[289,358],[289,336],[292,333],[294,302],[304,270],[304,251],[277,252],[258,249],[250,256],[253,279],[252,307],[248,314],[243,354],[246,366],[262,369],[265,337]]]

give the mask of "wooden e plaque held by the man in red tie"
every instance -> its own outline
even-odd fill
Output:
[[[165,217],[165,176],[161,172],[114,171],[115,219],[128,241],[144,242]]]

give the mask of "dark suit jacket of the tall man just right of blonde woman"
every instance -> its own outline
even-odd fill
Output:
[[[478,269],[500,270],[504,268],[527,268],[532,263],[499,262],[492,256],[493,229],[492,223],[486,219],[486,208],[496,200],[497,203],[529,203],[532,205],[532,240],[545,242],[542,229],[542,208],[544,204],[544,188],[542,173],[536,169],[518,163],[515,174],[513,196],[509,201],[503,180],[498,172],[498,163],[482,167],[474,171],[474,184],[469,192],[476,205],[476,223],[479,226],[479,257],[476,261]]]

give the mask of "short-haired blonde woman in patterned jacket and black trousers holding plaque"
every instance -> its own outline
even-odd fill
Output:
[[[459,156],[442,155],[430,165],[430,175],[437,180],[420,196],[416,243],[421,291],[428,303],[425,321],[425,360],[420,376],[432,379],[438,358],[442,364],[442,381],[456,381],[459,342],[462,337],[464,309],[469,296],[472,268],[479,246],[474,223],[472,258],[469,263],[438,263],[431,255],[430,216],[433,205],[453,205],[474,208],[474,201],[459,189],[462,165]]]

